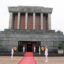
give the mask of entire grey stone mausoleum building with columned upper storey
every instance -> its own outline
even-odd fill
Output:
[[[42,46],[48,46],[49,53],[57,53],[59,42],[64,43],[62,32],[51,29],[52,8],[37,6],[9,7],[9,29],[0,31],[0,51],[39,52]],[[63,44],[64,45],[64,44]],[[42,53],[42,52],[41,52]]]

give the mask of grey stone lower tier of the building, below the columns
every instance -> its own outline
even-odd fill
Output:
[[[19,41],[39,41],[40,46],[48,45],[49,52],[57,52],[58,43],[64,42],[62,32],[54,30],[5,30],[0,32],[0,51],[10,51]]]

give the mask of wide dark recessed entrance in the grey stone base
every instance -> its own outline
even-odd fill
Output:
[[[39,46],[41,43],[39,41],[19,41],[18,42],[18,52],[23,52],[23,47],[25,47],[25,52],[33,52],[34,46],[36,47],[36,53],[39,52]]]

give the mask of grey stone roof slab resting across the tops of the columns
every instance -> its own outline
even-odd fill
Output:
[[[37,7],[37,6],[18,6],[18,7],[9,7],[9,12],[43,12],[43,13],[52,13],[52,8],[46,7]]]

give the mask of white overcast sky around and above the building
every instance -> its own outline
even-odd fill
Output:
[[[0,31],[9,27],[9,6],[43,6],[53,8],[52,30],[64,32],[64,0],[0,0]]]

